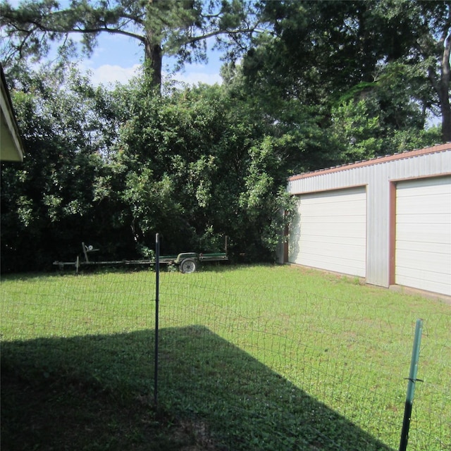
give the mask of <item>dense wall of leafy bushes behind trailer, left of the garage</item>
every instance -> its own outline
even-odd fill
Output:
[[[4,165],[4,271],[73,259],[85,240],[130,259],[155,233],[166,253],[218,251],[228,235],[232,253],[271,258],[290,138],[265,135],[258,109],[218,86],[161,97],[145,78],[106,92],[58,77],[16,80],[29,155]]]

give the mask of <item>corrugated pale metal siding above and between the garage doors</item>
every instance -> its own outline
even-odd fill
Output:
[[[374,160],[362,166],[343,166],[288,180],[288,192],[292,194],[366,185],[366,281],[374,285],[388,287],[390,283],[390,182],[451,173],[451,144],[412,154],[407,152],[388,161]]]

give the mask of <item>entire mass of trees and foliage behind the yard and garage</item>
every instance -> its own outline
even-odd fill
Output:
[[[440,141],[426,123],[447,111],[446,2],[43,0],[1,12],[27,154],[2,163],[2,271],[73,259],[85,240],[130,259],[157,232],[168,254],[214,252],[228,235],[232,257],[270,260],[290,221],[288,175]],[[71,32],[89,54],[107,28],[145,53],[142,75],[112,90],[67,66]],[[206,37],[227,52],[223,85],[160,92],[163,54],[203,61]],[[59,66],[27,66],[62,42]]]

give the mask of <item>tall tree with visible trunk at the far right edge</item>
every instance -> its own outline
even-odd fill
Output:
[[[380,70],[403,65],[411,99],[441,116],[442,140],[451,141],[451,1],[381,0],[372,13],[386,30]]]

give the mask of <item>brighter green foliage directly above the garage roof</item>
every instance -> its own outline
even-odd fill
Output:
[[[340,163],[360,161],[385,154],[426,147],[440,141],[438,130],[425,130],[425,110],[416,68],[389,63],[378,79],[359,83],[343,94],[331,109],[330,139],[335,142]],[[424,96],[424,97],[423,97]]]

